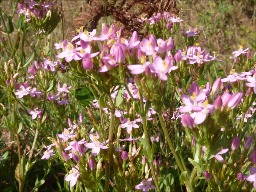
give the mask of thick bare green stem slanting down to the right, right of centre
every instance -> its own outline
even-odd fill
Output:
[[[180,170],[181,170],[181,173],[182,173],[182,172],[185,171],[185,169],[184,169],[184,167],[182,166],[182,163],[181,163],[181,161],[180,161],[180,158],[178,157],[178,155],[177,155],[177,153],[176,153],[176,151],[175,151],[175,148],[174,148],[174,146],[173,146],[173,143],[172,143],[172,141],[171,141],[171,139],[170,139],[169,133],[167,132],[167,129],[166,129],[166,127],[165,127],[165,123],[164,123],[164,121],[163,121],[163,117],[162,117],[161,111],[158,112],[157,114],[158,114],[158,118],[159,118],[159,120],[160,120],[161,126],[162,126],[162,128],[163,128],[163,132],[165,133],[165,138],[167,139],[167,142],[168,142],[168,144],[169,144],[169,146],[170,146],[170,149],[171,149],[171,151],[172,151],[172,154],[173,154],[173,156],[174,156],[174,158],[175,158],[175,160],[176,160],[178,166],[180,167]]]

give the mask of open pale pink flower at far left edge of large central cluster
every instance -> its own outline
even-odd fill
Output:
[[[82,47],[76,48],[74,49],[74,46],[68,42],[66,39],[63,41],[63,49],[64,52],[57,54],[56,57],[57,58],[64,58],[67,62],[72,61],[73,56],[75,56],[76,51],[79,51],[82,49]]]

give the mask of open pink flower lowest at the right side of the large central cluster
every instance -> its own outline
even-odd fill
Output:
[[[167,80],[166,74],[169,72],[171,65],[172,63],[170,59],[165,58],[165,60],[162,60],[161,57],[155,56],[153,60],[153,64],[150,64],[148,66],[151,69],[151,71],[157,74],[161,80],[166,81]]]

